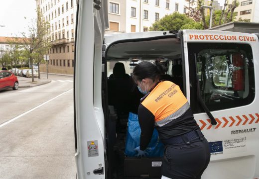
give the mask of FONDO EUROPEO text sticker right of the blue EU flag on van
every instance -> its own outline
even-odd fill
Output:
[[[223,151],[224,154],[229,154],[233,152],[244,152],[247,150],[246,137],[241,137],[238,139],[229,139],[223,141]]]

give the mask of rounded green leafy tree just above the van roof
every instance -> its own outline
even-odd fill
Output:
[[[180,29],[202,29],[202,25],[189,18],[186,14],[174,12],[170,15],[165,15],[149,27],[149,31]]]

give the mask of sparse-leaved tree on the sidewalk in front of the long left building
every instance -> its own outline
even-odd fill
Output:
[[[46,22],[40,12],[39,7],[36,10],[37,18],[32,20],[32,23],[28,26],[28,35],[22,32],[23,44],[22,47],[24,49],[25,56],[29,59],[29,64],[31,66],[32,71],[32,82],[34,82],[33,77],[33,61],[35,57],[37,57],[37,53],[46,52],[46,49],[49,48],[48,41],[48,29],[49,23]],[[37,65],[39,66],[41,61],[37,61]]]

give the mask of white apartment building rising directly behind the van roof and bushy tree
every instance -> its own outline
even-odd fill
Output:
[[[174,11],[186,13],[185,0],[109,0],[106,33],[143,32]]]

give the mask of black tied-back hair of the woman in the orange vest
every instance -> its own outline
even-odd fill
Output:
[[[159,79],[159,76],[164,73],[164,68],[160,63],[152,63],[143,61],[135,66],[133,69],[133,80],[141,81],[149,78],[153,81]]]

